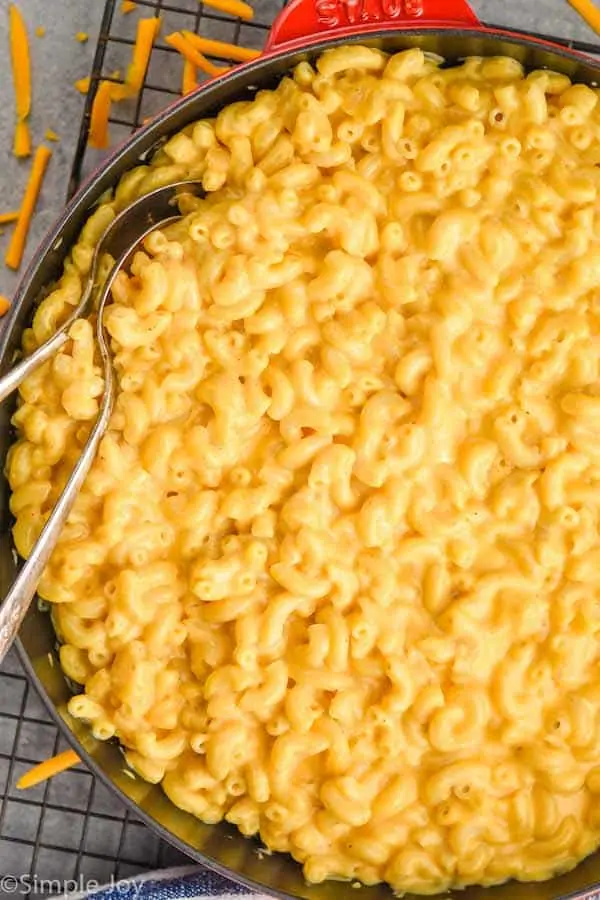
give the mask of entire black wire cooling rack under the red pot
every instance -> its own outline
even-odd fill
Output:
[[[284,0],[256,0],[257,16],[252,22],[221,15],[198,0],[137,3],[137,12],[127,16],[120,13],[118,0],[106,3],[70,194],[102,161],[102,154],[87,146],[95,90],[103,78],[118,78],[116,72],[124,73],[140,16],[160,15],[163,35],[186,28],[205,37],[260,49]],[[598,53],[593,44],[554,40]],[[159,41],[140,95],[114,107],[110,119],[113,146],[179,96],[181,67],[176,51]],[[94,882],[105,883],[187,861],[136,821],[83,766],[27,792],[16,790],[20,775],[66,746],[30,687],[16,654],[10,653],[0,670],[0,898],[9,893],[42,898],[61,893],[64,885],[81,890]],[[16,881],[3,885],[2,877],[6,876]]]

